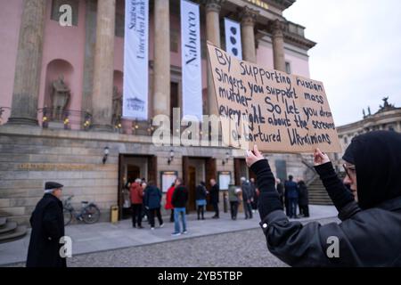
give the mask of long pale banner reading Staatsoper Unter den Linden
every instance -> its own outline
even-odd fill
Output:
[[[123,118],[148,118],[149,0],[126,0]]]

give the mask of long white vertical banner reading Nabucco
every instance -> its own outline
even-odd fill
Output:
[[[201,28],[199,5],[181,0],[183,114],[202,117]]]

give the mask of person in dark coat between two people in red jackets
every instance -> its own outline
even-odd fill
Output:
[[[162,228],[164,224],[160,213],[161,191],[155,183],[149,182],[144,192],[144,203],[149,212],[151,230],[154,230],[154,216],[158,217],[160,228]]]

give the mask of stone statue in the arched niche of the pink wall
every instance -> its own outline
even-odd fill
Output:
[[[64,83],[62,75],[52,82],[53,119],[63,119],[62,115],[70,102],[70,95],[70,88]]]

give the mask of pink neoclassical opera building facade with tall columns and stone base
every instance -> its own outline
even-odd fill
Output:
[[[309,77],[315,43],[282,12],[295,0],[208,0],[200,4],[202,102],[217,114],[206,42],[225,48],[224,18],[241,23],[242,58]],[[60,23],[68,4],[72,25]],[[149,118],[121,118],[124,0],[13,0],[0,10],[0,216],[27,221],[45,181],[65,185],[75,202],[92,200],[107,213],[127,207],[124,185],[143,177],[165,188],[184,177],[190,187],[210,178],[250,177],[242,151],[225,147],[157,147],[151,118],[182,106],[178,0],[151,0]],[[105,150],[109,152],[105,153]],[[269,154],[284,178],[312,175],[300,155]],[[102,163],[105,158],[105,163]],[[168,178],[169,177],[169,178]]]

